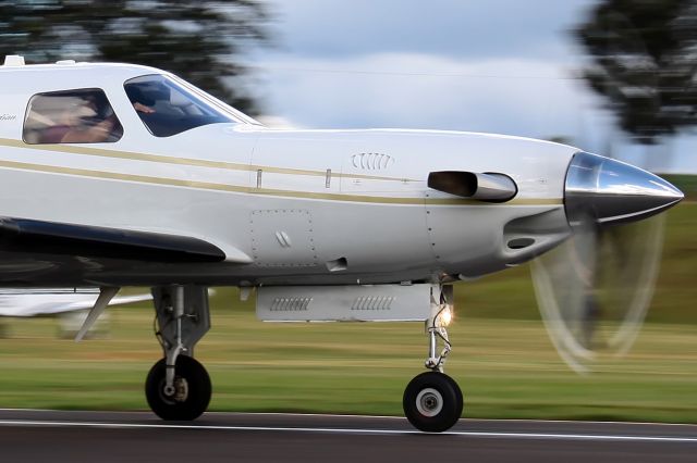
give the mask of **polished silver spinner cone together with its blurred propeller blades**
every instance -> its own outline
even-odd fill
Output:
[[[587,373],[600,352],[632,347],[651,302],[664,216],[682,200],[660,177],[578,153],[565,186],[571,238],[533,262],[538,305],[561,358]],[[640,222],[637,222],[640,221]]]

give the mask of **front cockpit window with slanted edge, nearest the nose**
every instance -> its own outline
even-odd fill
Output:
[[[156,137],[170,137],[208,124],[243,122],[212,97],[209,100],[203,91],[169,76],[132,78],[124,88],[138,116]]]

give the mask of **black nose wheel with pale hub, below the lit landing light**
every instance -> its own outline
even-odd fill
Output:
[[[464,402],[453,378],[443,373],[426,372],[406,386],[402,405],[404,415],[415,428],[442,433],[457,423]]]

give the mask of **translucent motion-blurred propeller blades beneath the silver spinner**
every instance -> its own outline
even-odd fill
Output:
[[[565,243],[533,262],[548,334],[575,372],[631,349],[651,302],[663,228],[662,215],[610,228],[580,221]]]

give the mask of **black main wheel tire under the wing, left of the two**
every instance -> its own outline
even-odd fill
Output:
[[[204,365],[187,355],[176,358],[174,381],[184,389],[179,397],[164,393],[166,361],[157,362],[145,380],[145,397],[150,410],[162,420],[192,421],[206,411],[210,402],[211,386]]]

